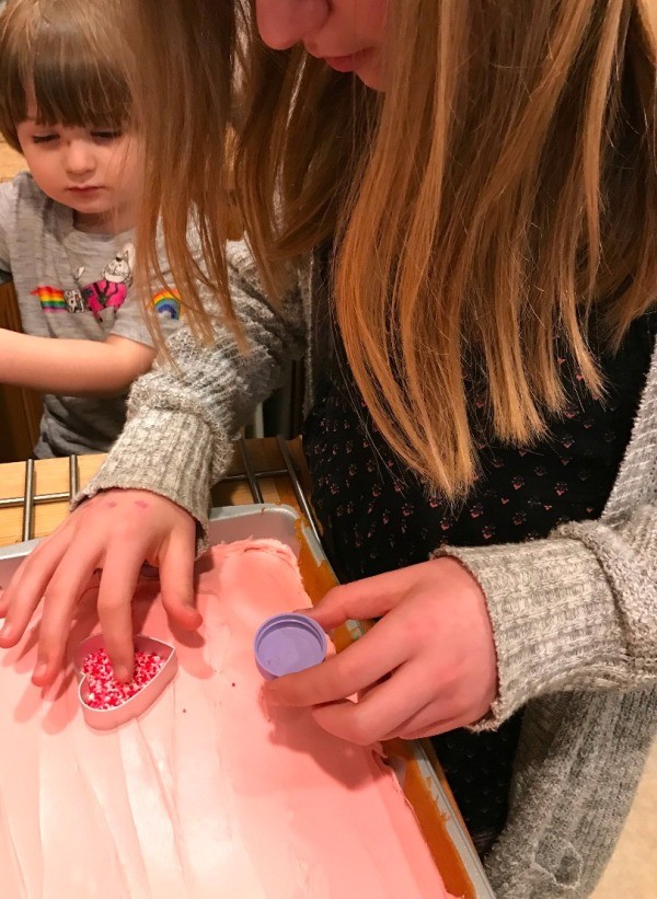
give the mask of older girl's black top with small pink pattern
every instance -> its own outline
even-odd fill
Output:
[[[657,313],[647,313],[618,353],[597,354],[607,385],[602,400],[561,358],[564,383],[570,384],[568,405],[531,448],[486,436],[477,424],[483,402],[473,394],[481,475],[456,509],[428,494],[390,450],[350,377],[336,374],[345,366],[328,366],[304,423],[303,445],[313,506],[338,578],[346,583],[424,562],[441,544],[520,542],[544,538],[560,522],[597,518],[630,440],[656,332]],[[520,725],[521,714],[493,734],[454,730],[434,740],[482,853],[504,827]]]

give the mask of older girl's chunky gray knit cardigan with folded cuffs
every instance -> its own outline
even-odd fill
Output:
[[[250,341],[220,324],[200,347],[181,329],[131,392],[123,435],[84,494],[137,487],[168,496],[200,523],[231,438],[311,345],[312,263],[279,311],[264,299],[244,247],[231,247],[234,302]],[[308,401],[313,370],[309,364]],[[499,692],[496,727],[525,706],[510,815],[486,868],[500,899],[585,897],[629,810],[657,729],[657,353],[632,440],[598,521],[521,545],[441,549],[487,597]]]

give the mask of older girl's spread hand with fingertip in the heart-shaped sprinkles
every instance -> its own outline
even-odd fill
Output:
[[[131,600],[145,562],[160,568],[162,602],[170,618],[193,630],[196,522],[169,499],[146,491],[113,489],[80,506],[43,540],[0,596],[0,647],[14,646],[42,597],[38,657],[32,680],[51,683],[62,662],[78,600],[102,568],[99,618],[119,680],[132,671]]]

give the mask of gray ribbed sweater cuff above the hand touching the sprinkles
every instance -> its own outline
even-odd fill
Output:
[[[76,496],[72,508],[113,487],[151,491],[182,506],[199,522],[200,551],[208,525],[214,449],[210,428],[195,415],[159,408],[128,419],[107,460]],[[227,464],[229,459],[227,446]]]

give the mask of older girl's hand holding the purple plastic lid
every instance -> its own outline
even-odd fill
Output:
[[[357,744],[414,739],[473,724],[496,695],[484,595],[454,558],[331,590],[310,612],[326,631],[382,616],[353,646],[264,688],[274,705],[312,705],[324,729]],[[360,694],[358,703],[346,698]]]

